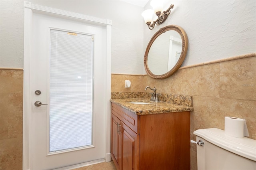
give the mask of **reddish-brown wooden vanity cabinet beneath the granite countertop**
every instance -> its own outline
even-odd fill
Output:
[[[117,170],[189,170],[190,112],[136,115],[111,104]]]

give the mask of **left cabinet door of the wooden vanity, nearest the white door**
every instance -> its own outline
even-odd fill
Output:
[[[111,158],[116,166],[116,169],[120,169],[120,139],[119,133],[120,120],[113,114],[111,114]]]

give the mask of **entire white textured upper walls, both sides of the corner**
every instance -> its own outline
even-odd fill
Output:
[[[36,4],[112,20],[112,73],[145,74],[143,57],[148,41],[160,28],[175,24],[188,34],[183,63],[193,65],[256,51],[255,0],[165,0],[174,9],[166,22],[149,30],[142,7],[117,0],[35,0]],[[23,67],[21,0],[1,0],[0,67]],[[151,8],[149,4],[144,9]],[[246,44],[246,45],[245,45]]]

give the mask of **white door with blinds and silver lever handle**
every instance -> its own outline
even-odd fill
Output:
[[[33,169],[104,158],[105,28],[33,17]]]

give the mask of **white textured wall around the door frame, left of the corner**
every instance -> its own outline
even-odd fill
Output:
[[[142,7],[117,0],[35,0],[31,2],[112,20],[112,73],[143,72]],[[0,67],[23,68],[23,1],[1,0],[0,3]]]

